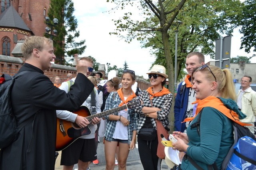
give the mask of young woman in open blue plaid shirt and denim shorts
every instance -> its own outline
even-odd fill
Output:
[[[136,98],[132,91],[135,83],[135,72],[124,70],[122,74],[122,88],[111,92],[106,100],[105,110],[127,104]],[[134,149],[137,133],[137,124],[134,109],[125,109],[106,117],[105,131],[105,158],[106,170],[114,170],[116,147],[119,145],[118,169],[126,169],[126,160],[129,151]]]

